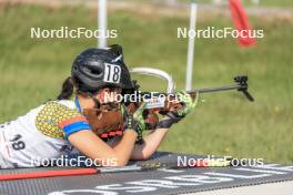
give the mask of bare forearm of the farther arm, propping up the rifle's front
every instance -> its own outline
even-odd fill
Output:
[[[158,150],[168,130],[169,129],[156,129],[143,136],[144,143],[142,145],[135,144],[131,160],[148,160]]]

